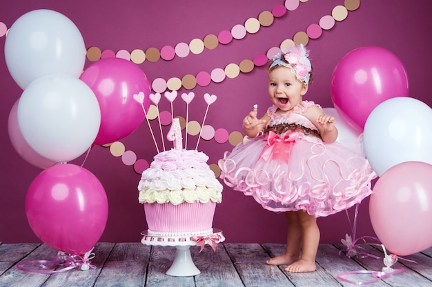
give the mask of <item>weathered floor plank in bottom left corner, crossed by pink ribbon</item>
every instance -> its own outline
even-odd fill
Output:
[[[33,260],[53,260],[57,255],[57,250],[42,244],[21,261]],[[50,277],[49,274],[32,273],[22,271],[16,265],[12,266],[6,273],[0,276],[0,286],[21,287],[21,286],[41,286]]]

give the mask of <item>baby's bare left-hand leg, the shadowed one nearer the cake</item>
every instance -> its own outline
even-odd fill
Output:
[[[268,265],[289,265],[300,258],[300,246],[302,245],[302,227],[299,224],[297,212],[285,212],[288,222],[288,235],[286,236],[286,250],[283,255],[268,259]]]

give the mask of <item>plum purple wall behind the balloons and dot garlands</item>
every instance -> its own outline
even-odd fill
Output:
[[[397,4],[395,3],[397,2]],[[283,0],[268,1],[8,1],[0,10],[0,22],[6,26],[22,14],[39,8],[56,10],[71,19],[81,31],[86,47],[96,46],[101,50],[135,49],[175,46],[179,42],[204,39],[207,34],[218,34],[230,30],[236,24],[244,24],[264,10],[284,4]],[[307,1],[300,7],[275,19],[271,27],[261,28],[256,34],[248,34],[239,41],[227,45],[219,44],[214,50],[204,50],[200,55],[189,55],[173,61],[145,61],[139,67],[148,79],[169,79],[196,75],[204,70],[224,68],[228,63],[239,63],[264,54],[268,48],[279,46],[284,39],[292,39],[295,32],[304,31],[311,23],[318,23],[321,17],[331,14],[333,7],[344,5],[342,0]],[[336,22],[331,30],[324,31],[319,39],[311,40],[308,48],[315,69],[315,81],[306,99],[320,103],[323,107],[333,106],[330,82],[333,69],[346,53],[362,46],[381,46],[400,58],[409,75],[410,95],[432,106],[429,97],[429,77],[432,63],[431,11],[429,1],[363,0],[358,10]],[[181,11],[181,12],[180,12]],[[0,38],[0,241],[39,241],[26,219],[24,201],[28,186],[42,171],[15,152],[8,139],[8,115],[12,105],[21,95],[6,68],[4,55],[5,37]],[[86,67],[90,65],[87,61]],[[179,92],[184,92],[184,89]],[[222,83],[210,83],[195,88],[195,95],[205,92],[218,96],[210,106],[206,124],[214,128],[225,128],[228,132],[241,130],[242,118],[254,103],[260,107],[270,104],[266,94],[266,70],[255,68],[235,79]],[[161,101],[161,109],[168,110]],[[190,105],[190,120],[201,122],[206,105],[194,100]],[[175,114],[186,113],[183,101],[175,101]],[[195,143],[196,137],[189,137]],[[156,153],[153,141],[144,122],[132,135],[121,140],[127,150],[137,153],[140,159],[151,161]],[[222,157],[224,150],[233,146],[217,143],[214,139],[200,141],[199,150],[206,152],[209,164]],[[84,156],[74,164],[81,165]],[[139,241],[141,230],[146,229],[144,211],[137,201],[139,175],[132,166],[126,166],[119,157],[110,154],[108,148],[92,148],[84,164],[101,181],[109,201],[108,224],[101,241]],[[263,210],[251,197],[245,197],[230,188],[224,188],[223,203],[217,206],[215,228],[224,230],[227,242],[276,242],[283,243],[286,237],[284,215]],[[351,218],[353,209],[349,210]],[[67,216],[67,215],[66,215]],[[320,218],[319,225],[323,243],[339,242],[345,233],[351,233],[345,212]],[[357,235],[373,235],[368,212],[368,200],[360,206]],[[71,235],[72,236],[72,235]]]

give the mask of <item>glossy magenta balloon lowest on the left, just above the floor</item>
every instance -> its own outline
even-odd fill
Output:
[[[91,172],[73,164],[43,170],[26,196],[28,223],[45,244],[73,255],[87,253],[104,232],[108,199]]]

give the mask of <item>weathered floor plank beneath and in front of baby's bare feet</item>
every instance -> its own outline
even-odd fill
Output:
[[[285,252],[285,244],[263,244],[264,248],[270,253],[271,257],[282,255]],[[337,250],[335,249],[335,252]],[[316,286],[340,286],[339,282],[329,275],[320,264],[317,270],[311,273],[287,273],[284,269],[286,265],[279,266],[279,269],[285,273],[286,277],[293,282],[295,286],[316,287]]]

